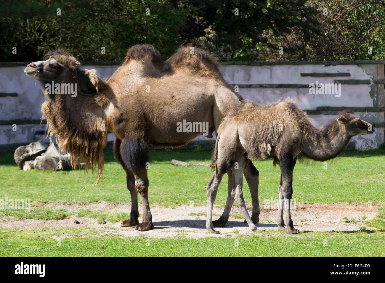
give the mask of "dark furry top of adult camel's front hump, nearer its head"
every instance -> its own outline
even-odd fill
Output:
[[[123,65],[128,64],[131,60],[142,60],[151,58],[154,67],[161,71],[169,69],[169,65],[162,60],[159,51],[151,44],[136,44],[127,50],[126,58],[124,58]]]

